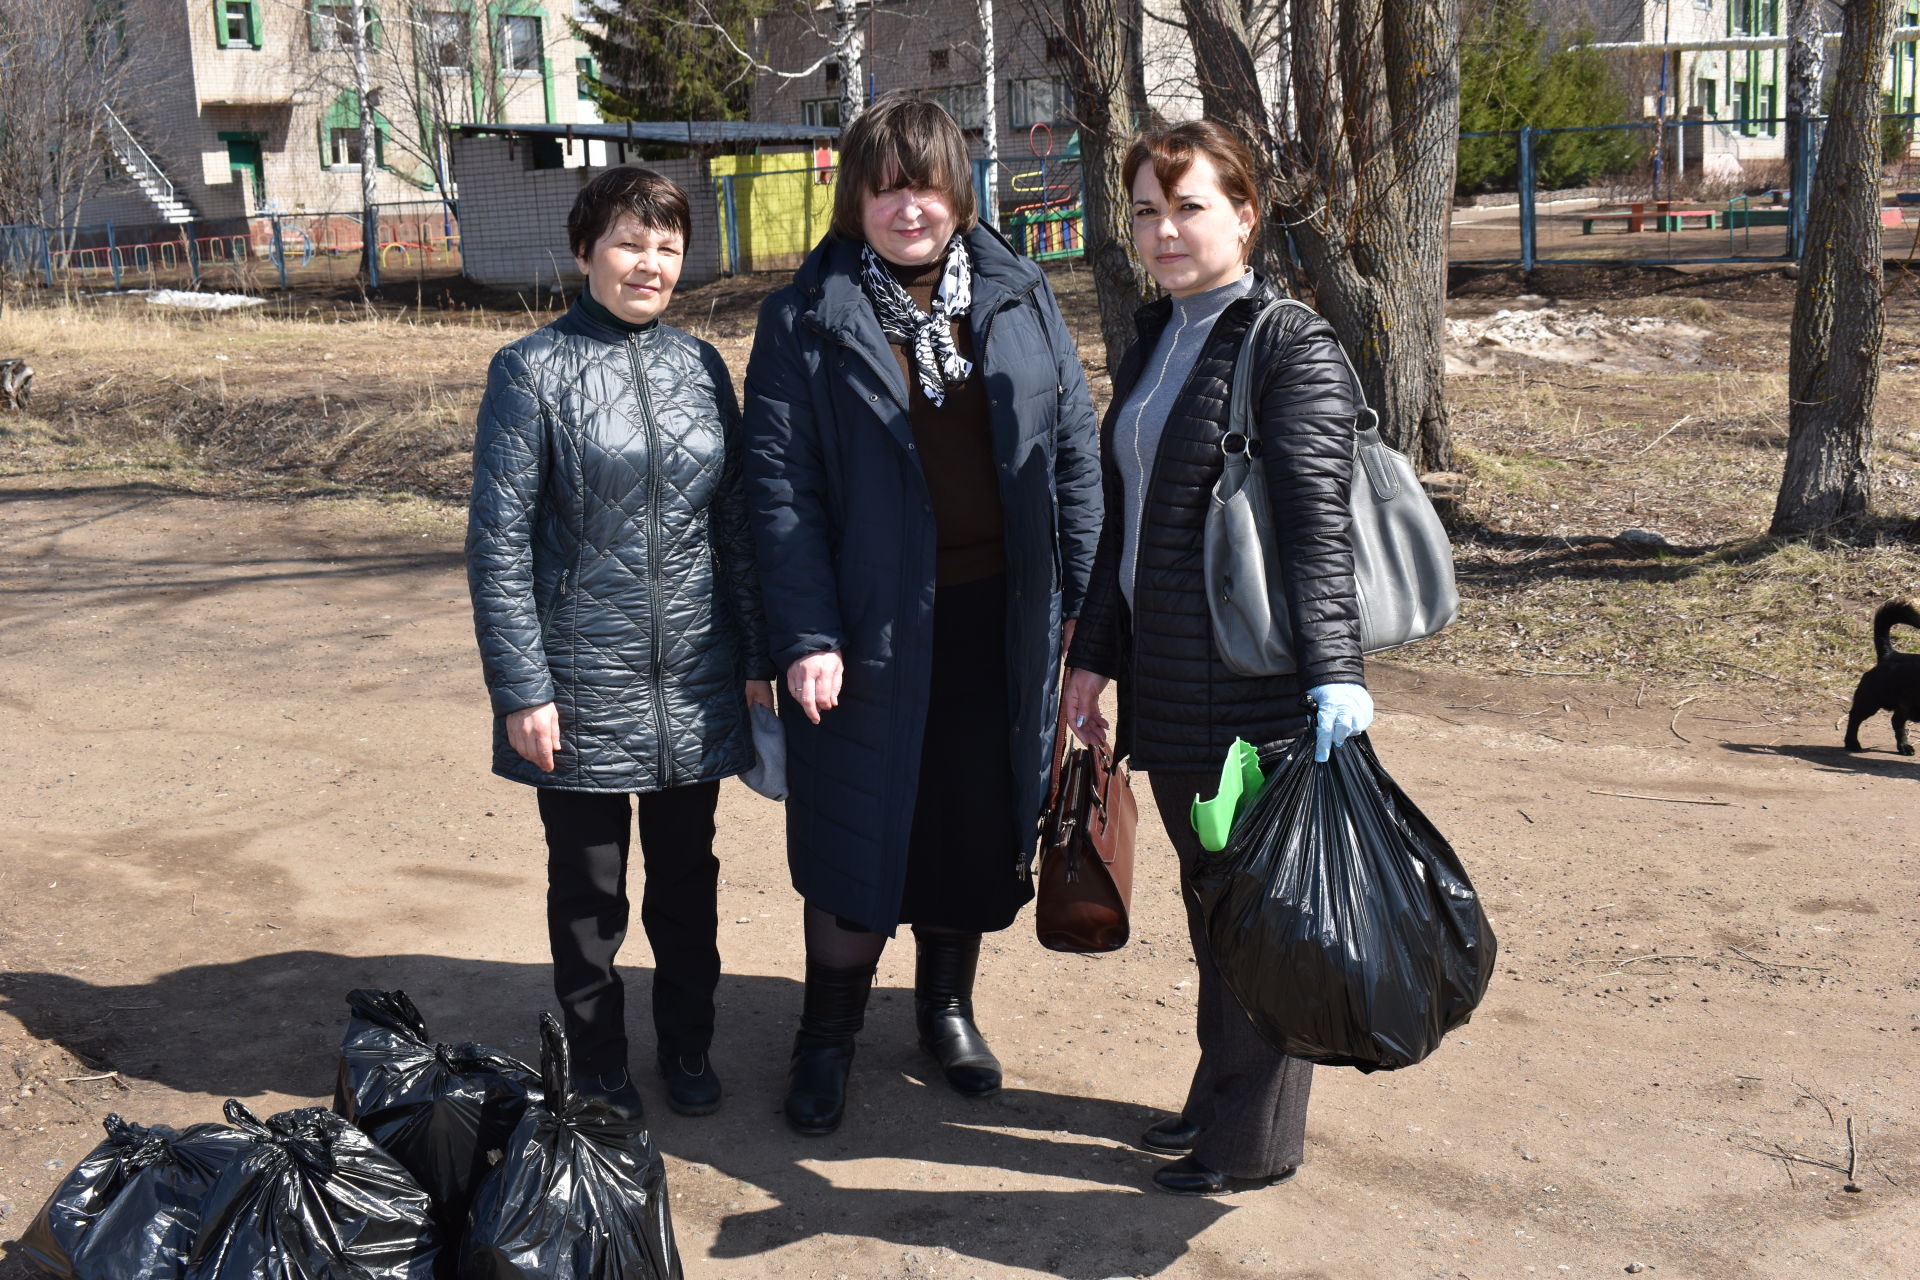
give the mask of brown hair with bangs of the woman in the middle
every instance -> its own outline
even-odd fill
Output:
[[[937,190],[952,209],[954,230],[973,230],[979,221],[973,211],[973,165],[960,125],[937,102],[887,94],[841,134],[833,230],[862,240],[860,201],[900,184]]]

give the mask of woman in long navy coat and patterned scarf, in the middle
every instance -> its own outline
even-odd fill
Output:
[[[1000,1088],[983,933],[1033,896],[1062,641],[1100,532],[1087,380],[1046,276],[973,215],[960,127],[910,98],[841,140],[833,230],[768,297],[747,487],[787,733],[806,996],[787,1121],[831,1132],[887,936],[922,1046]]]

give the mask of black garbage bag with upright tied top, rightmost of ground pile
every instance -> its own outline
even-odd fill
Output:
[[[540,1075],[545,1096],[474,1196],[461,1280],[680,1280],[660,1153],[645,1123],[572,1092],[551,1013]]]

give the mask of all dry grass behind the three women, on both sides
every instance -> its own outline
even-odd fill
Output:
[[[714,342],[737,376],[776,284],[691,290],[672,319]],[[1089,276],[1062,271],[1054,284],[1104,401]],[[1789,305],[1684,294],[1601,305],[1715,330],[1711,367],[1457,380],[1467,603],[1455,628],[1396,658],[1659,689],[1845,693],[1870,662],[1872,608],[1920,589],[1920,303],[1895,301],[1887,334],[1876,478],[1887,518],[1822,547],[1764,539],[1786,441]],[[545,319],[298,305],[180,315],[127,301],[0,309],[0,355],[23,353],[40,370],[33,413],[0,418],[0,470],[138,470],[228,493],[413,493],[453,512],[488,357]],[[1628,528],[1670,549],[1622,547],[1615,535]]]

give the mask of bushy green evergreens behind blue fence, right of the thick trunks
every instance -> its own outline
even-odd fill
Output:
[[[1461,130],[1624,123],[1628,96],[1605,58],[1582,48],[1588,38],[1578,31],[1549,50],[1530,0],[1473,4],[1461,17]],[[1632,167],[1640,152],[1642,138],[1624,129],[1553,134],[1536,140],[1534,173],[1546,188],[1580,186]],[[1519,148],[1511,136],[1461,138],[1457,192],[1511,188],[1517,180]]]

